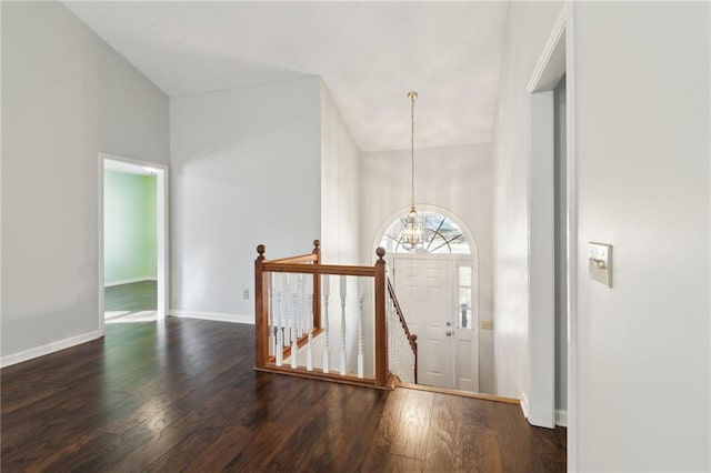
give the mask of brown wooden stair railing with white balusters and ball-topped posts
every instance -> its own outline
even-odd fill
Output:
[[[267,260],[263,244],[257,246],[258,258],[254,261],[254,369],[301,375],[307,378],[340,381],[351,384],[370,385],[381,389],[393,389],[395,376],[388,364],[388,328],[385,322],[385,250],[375,251],[378,260],[372,266],[331,265],[321,264],[319,240],[314,240],[311,253],[299,256]],[[273,279],[281,274],[283,286],[274,291]],[[312,282],[306,281],[304,275],[312,275]],[[321,278],[326,275],[328,283],[330,275],[340,278],[341,302],[341,363],[340,370],[329,369],[329,286],[323,286]],[[363,374],[363,295],[357,299],[358,312],[358,374],[346,371],[346,276],[372,279],[373,288],[373,328],[374,328],[374,363],[372,376]],[[310,278],[309,278],[310,279]],[[297,282],[292,282],[296,280]],[[293,285],[297,290],[292,292]],[[336,291],[334,291],[336,292]],[[282,300],[284,295],[287,301]],[[322,318],[323,309],[327,311]],[[291,305],[289,305],[291,304]],[[291,309],[290,309],[291,308]],[[286,313],[286,319],[282,315]],[[289,330],[289,332],[287,332]],[[314,366],[313,344],[320,339],[324,344],[324,365]],[[288,343],[290,342],[290,343]],[[302,348],[307,348],[307,366],[299,366],[298,355]],[[290,359],[290,365],[284,360]]]

